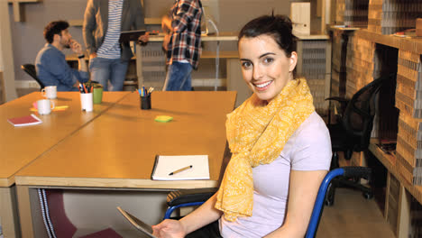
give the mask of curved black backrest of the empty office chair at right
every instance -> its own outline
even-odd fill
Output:
[[[387,81],[386,78],[377,78],[362,87],[353,95],[344,110],[342,125],[347,133],[347,143],[353,151],[368,148],[377,107],[377,93],[385,81]]]

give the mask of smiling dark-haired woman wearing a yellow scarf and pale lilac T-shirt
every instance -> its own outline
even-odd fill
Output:
[[[158,237],[305,235],[331,142],[305,78],[294,75],[295,47],[286,16],[261,16],[243,27],[239,56],[253,95],[227,115],[232,158],[221,186],[179,221],[154,225]]]

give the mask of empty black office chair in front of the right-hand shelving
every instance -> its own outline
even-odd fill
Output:
[[[389,77],[395,77],[390,75]],[[370,84],[356,92],[350,101],[341,97],[330,97],[326,100],[335,100],[344,108],[343,115],[338,117],[336,124],[327,124],[331,135],[333,158],[331,169],[339,167],[338,152],[344,152],[344,158],[350,160],[353,151],[367,151],[371,139],[373,117],[376,111],[376,98],[387,78],[377,78]],[[360,184],[357,178],[335,178],[328,188],[326,205],[334,204],[335,188],[357,188],[364,197],[373,197],[372,189]]]

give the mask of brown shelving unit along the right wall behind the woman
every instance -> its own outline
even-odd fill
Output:
[[[364,1],[360,2],[364,4]],[[401,38],[391,34],[415,28],[416,18],[422,17],[422,5],[418,0],[367,0],[366,2],[368,3],[367,27],[363,26],[361,30],[348,35],[344,95],[352,96],[374,78],[397,73],[397,79],[391,81],[392,90],[384,88],[380,94],[380,105],[390,104],[390,109],[393,112],[396,110],[397,115],[386,112],[377,115],[372,136],[379,139],[372,142],[370,151],[389,171],[384,210],[386,219],[398,237],[420,237],[422,235],[420,228],[422,226],[422,103],[420,102],[422,39]],[[356,0],[338,0],[336,3],[335,12],[341,13],[346,5],[353,5]],[[344,23],[344,19],[344,15],[337,15],[335,23],[341,23],[342,20]],[[353,23],[350,25],[354,26]],[[339,37],[342,37],[344,32],[335,33],[335,31],[333,31],[333,41],[340,42]],[[339,58],[342,56],[340,54],[333,56],[333,62],[342,60]],[[331,94],[341,94],[340,86],[343,82],[333,81],[338,82],[338,85],[332,85]],[[397,140],[397,149],[393,155],[386,154],[376,145],[384,136],[390,137],[393,141]]]

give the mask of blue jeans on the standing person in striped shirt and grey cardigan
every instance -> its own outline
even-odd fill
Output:
[[[124,78],[126,77],[128,61],[122,59],[105,59],[96,57],[89,60],[89,71],[91,80],[97,81],[108,91],[110,80],[110,91],[123,91]]]

